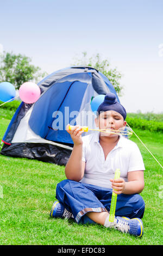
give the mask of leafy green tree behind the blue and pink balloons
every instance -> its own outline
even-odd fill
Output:
[[[46,75],[46,72],[40,72],[39,66],[30,64],[32,59],[27,56],[4,52],[1,59],[0,82],[10,82],[16,89],[19,89],[24,82],[37,83],[39,78]]]

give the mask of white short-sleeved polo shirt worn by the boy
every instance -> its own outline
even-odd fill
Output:
[[[114,179],[115,170],[121,172],[121,178],[128,181],[128,172],[145,170],[142,155],[136,143],[120,135],[120,139],[108,156],[104,156],[99,144],[99,132],[82,137],[84,177],[80,182],[111,188],[110,179]]]

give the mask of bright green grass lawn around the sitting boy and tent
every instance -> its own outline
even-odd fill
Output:
[[[0,116],[0,139],[9,121]],[[134,131],[163,164],[162,133]],[[0,155],[0,245],[161,245],[162,169],[135,136],[131,139],[139,146],[146,166],[141,239],[98,224],[79,225],[49,217],[57,183],[65,179],[64,167]]]

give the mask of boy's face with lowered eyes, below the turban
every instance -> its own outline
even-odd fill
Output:
[[[99,127],[99,129],[118,130],[121,127],[126,126],[126,121],[123,120],[122,115],[113,110],[105,111],[99,114],[99,117],[95,119],[95,123],[96,126]],[[115,135],[109,135],[109,137],[112,136]]]

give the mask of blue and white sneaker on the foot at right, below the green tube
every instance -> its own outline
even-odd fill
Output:
[[[140,218],[115,217],[115,228],[123,233],[129,233],[141,237],[143,235],[143,223]]]

